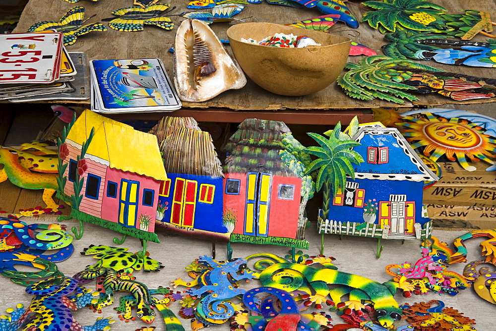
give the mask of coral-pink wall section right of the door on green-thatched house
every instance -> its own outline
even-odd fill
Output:
[[[277,197],[279,184],[295,185],[293,200]],[[298,177],[272,176],[270,193],[269,236],[296,239],[300,209],[302,180]]]

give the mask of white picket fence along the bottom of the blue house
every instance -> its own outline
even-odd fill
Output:
[[[384,227],[380,227],[378,224],[370,224],[366,223],[366,226],[357,229],[358,225],[362,225],[363,223],[355,223],[355,222],[341,222],[341,221],[332,221],[332,220],[322,220],[320,217],[318,218],[318,232],[326,233],[326,234],[346,234],[346,235],[354,235],[360,237],[370,237],[370,238],[383,238],[383,239],[403,239],[412,238],[411,235],[396,235],[389,233],[389,225],[385,225]],[[363,225],[362,225],[363,226]],[[430,238],[432,233],[432,221],[426,223],[426,226],[423,228],[421,224],[416,223],[415,225],[415,237],[417,239]]]

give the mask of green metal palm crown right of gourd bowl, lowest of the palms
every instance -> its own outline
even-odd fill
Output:
[[[397,104],[405,103],[400,98],[419,100],[404,91],[417,90],[414,86],[403,84],[414,75],[414,72],[408,71],[409,68],[440,71],[428,65],[382,55],[367,56],[358,63],[347,63],[345,68],[350,71],[338,77],[337,82],[347,95],[361,100],[378,98]]]

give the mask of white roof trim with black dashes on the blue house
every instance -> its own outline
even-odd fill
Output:
[[[416,174],[402,174],[402,173],[368,173],[368,172],[356,172],[355,177],[357,178],[367,178],[367,179],[382,179],[382,180],[411,180],[411,181],[437,181],[437,177],[434,172],[432,172],[427,165],[424,164],[422,159],[413,150],[408,141],[401,135],[401,133],[396,128],[370,128],[365,127],[360,129],[357,134],[352,138],[353,140],[360,142],[365,135],[392,135],[398,145],[403,149],[403,152],[410,158],[410,161],[417,166],[420,173]]]

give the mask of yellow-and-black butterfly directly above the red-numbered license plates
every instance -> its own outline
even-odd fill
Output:
[[[33,24],[28,29],[28,32],[37,32],[37,31],[55,29],[58,32],[63,33],[63,44],[67,46],[74,44],[78,36],[87,34],[88,32],[107,31],[107,27],[102,23],[91,23],[91,24],[82,25],[85,22],[83,21],[84,11],[85,9],[83,6],[72,7],[71,9],[69,9],[69,11],[65,13],[65,15],[62,16],[59,22],[56,21],[38,22]]]

